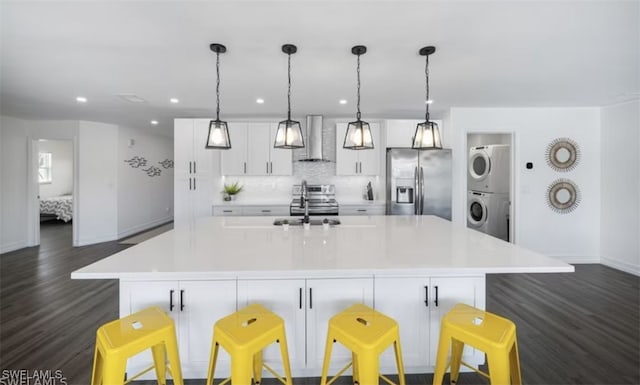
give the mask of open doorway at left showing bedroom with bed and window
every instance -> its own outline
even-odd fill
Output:
[[[75,156],[73,140],[36,139],[31,143],[30,191],[34,245],[74,244]]]

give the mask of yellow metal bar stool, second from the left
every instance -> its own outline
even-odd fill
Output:
[[[262,361],[262,350],[272,343],[280,344],[280,354],[285,378]],[[222,346],[231,356],[231,377],[219,385],[231,381],[232,385],[251,384],[251,372],[255,384],[262,381],[262,368],[266,368],[280,382],[292,385],[287,337],[284,320],[259,304],[253,304],[228,315],[215,323],[211,343],[211,359],[207,375],[207,385],[213,383],[213,374],[218,358],[218,348]]]

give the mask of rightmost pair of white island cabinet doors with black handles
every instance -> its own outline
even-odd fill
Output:
[[[442,317],[456,304],[484,309],[484,277],[376,277],[376,310],[400,324],[400,342],[408,372],[435,366]],[[464,359],[481,363],[483,356],[465,347]],[[381,368],[394,369],[391,349]]]

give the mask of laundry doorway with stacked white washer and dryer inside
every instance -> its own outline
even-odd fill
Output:
[[[516,243],[511,132],[467,134],[467,227]]]

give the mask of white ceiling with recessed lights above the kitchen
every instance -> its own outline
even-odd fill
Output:
[[[96,120],[171,134],[173,118],[286,116],[292,110],[432,117],[455,107],[602,106],[640,97],[640,1],[5,1],[0,2],[0,112]],[[142,104],[115,95],[135,94]],[[86,104],[77,104],[85,96]],[[180,103],[170,104],[177,97]],[[256,98],[265,99],[262,105]],[[348,104],[340,105],[339,99]],[[149,121],[160,124],[150,127]],[[302,120],[302,119],[301,119]]]

